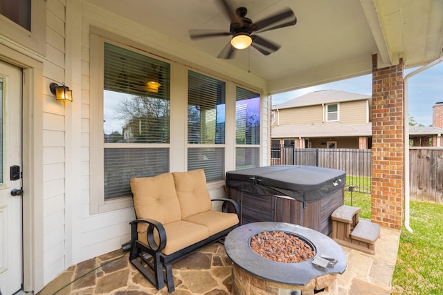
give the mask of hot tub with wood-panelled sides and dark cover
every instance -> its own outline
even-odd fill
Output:
[[[316,178],[314,182],[318,183],[315,183],[316,189],[312,190],[311,184],[306,184],[306,182],[297,184],[296,175],[301,173],[309,176],[309,173],[313,171],[312,169],[322,168],[311,166],[309,166],[309,168],[304,168],[305,166],[296,166],[298,169],[287,170],[285,169],[286,167],[287,166],[280,167],[280,175],[282,173],[284,177],[291,174],[294,176],[292,181],[296,183],[298,187],[296,187],[296,194],[293,196],[275,194],[273,189],[275,189],[276,184],[278,186],[278,183],[275,183],[275,180],[278,180],[280,176],[279,173],[275,174],[275,171],[271,173],[272,175],[269,175],[267,173],[269,172],[269,169],[266,169],[266,167],[262,167],[263,169],[261,170],[260,168],[257,168],[255,171],[240,172],[246,174],[249,173],[248,179],[250,179],[251,182],[254,182],[257,178],[261,179],[255,184],[249,183],[247,185],[242,185],[230,182],[228,178],[230,180],[232,180],[232,178],[238,179],[239,175],[233,175],[235,172],[228,172],[230,173],[230,175],[227,175],[226,177],[228,198],[235,200],[235,202],[239,204],[240,224],[245,225],[251,222],[260,221],[289,222],[320,231],[322,234],[330,236],[332,233],[332,212],[344,203],[345,175],[343,175],[343,171],[337,172],[335,169],[329,169],[331,170],[330,173],[332,173],[329,175],[330,179],[322,180],[321,177]],[[325,172],[324,169],[322,172]],[[252,176],[253,173],[255,173],[255,177]],[[272,176],[273,178],[273,182],[271,182],[273,189],[270,190],[271,193],[267,194],[266,187],[263,188],[262,183],[266,182],[263,178],[268,178],[269,176]],[[323,178],[324,177],[325,176],[323,176]],[[255,180],[253,180],[253,178],[255,178]],[[336,183],[337,178],[344,179],[341,180],[339,184],[332,184],[329,186],[329,182]],[[257,189],[257,186],[260,186],[260,189]],[[282,187],[284,186],[285,184],[282,184]],[[304,189],[309,190],[309,193],[304,191]],[[257,191],[258,193],[255,193],[254,191]],[[287,192],[287,194],[292,194],[289,191],[285,192]],[[308,194],[310,195],[309,200],[303,200]],[[296,198],[294,198],[294,196]]]

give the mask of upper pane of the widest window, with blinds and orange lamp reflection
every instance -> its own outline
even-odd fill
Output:
[[[105,43],[104,66],[105,142],[168,143],[170,65]]]

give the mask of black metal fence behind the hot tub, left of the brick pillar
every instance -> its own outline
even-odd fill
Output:
[[[347,189],[371,192],[372,153],[370,149],[294,149],[273,144],[271,165],[308,165],[343,170]]]

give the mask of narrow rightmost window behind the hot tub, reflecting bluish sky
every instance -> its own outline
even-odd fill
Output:
[[[259,166],[260,94],[236,88],[235,96],[235,169]]]

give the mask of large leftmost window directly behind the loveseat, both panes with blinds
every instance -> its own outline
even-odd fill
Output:
[[[91,202],[91,211],[98,213],[132,205],[130,178],[169,171],[170,64],[93,36],[91,48],[102,48],[101,55],[91,51],[91,77],[101,75],[91,97],[102,97],[91,102],[98,114],[91,123],[91,166],[98,169],[91,196],[98,207]]]

